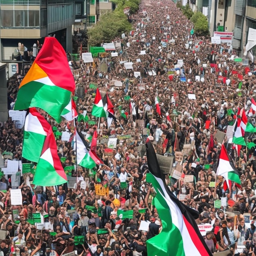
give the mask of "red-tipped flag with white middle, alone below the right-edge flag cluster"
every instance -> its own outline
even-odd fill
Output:
[[[220,150],[220,159],[216,174],[225,178],[224,187],[226,188],[231,189],[230,181],[236,182],[237,184],[241,184],[238,170],[234,166],[234,163],[232,159],[230,159],[227,150],[223,144]]]

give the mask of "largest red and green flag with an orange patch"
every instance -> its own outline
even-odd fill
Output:
[[[74,90],[74,76],[63,47],[56,38],[46,37],[42,49],[20,83],[14,110],[41,108],[60,122],[61,112]]]

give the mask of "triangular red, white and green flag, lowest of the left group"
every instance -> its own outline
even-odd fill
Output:
[[[50,129],[36,166],[33,184],[38,186],[56,186],[66,182],[67,176],[57,154],[54,134],[52,129]]]

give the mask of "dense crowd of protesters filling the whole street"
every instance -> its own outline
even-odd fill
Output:
[[[80,177],[74,188],[67,184],[35,187],[23,177],[19,186],[22,206],[11,205],[11,180],[3,176],[0,181],[7,184],[7,191],[0,191],[1,256],[61,256],[74,251],[91,256],[147,255],[146,240],[162,229],[154,206],[155,191],[146,182],[147,139],[159,155],[175,157],[173,169],[181,177],[177,180],[169,173],[166,183],[177,198],[198,211],[198,225],[210,225],[204,236],[211,251],[254,255],[255,148],[242,147],[235,153],[227,145],[240,172],[241,186],[233,184],[224,191],[223,177],[216,177],[220,148],[222,142],[227,143],[227,139],[218,141],[216,133],[226,132],[234,124],[238,108],[249,110],[256,94],[254,63],[243,66],[234,61],[236,51],[231,45],[212,44],[209,38],[195,36],[191,22],[172,1],[143,1],[132,21],[134,30],[115,39],[121,43],[118,57],[103,53],[94,63],[71,61],[76,106],[81,114],[87,111],[88,117],[76,121],[76,126],[89,144],[98,130],[97,154],[104,164],[92,170],[78,166],[72,173]],[[133,69],[126,69],[125,61],[132,62]],[[139,76],[134,72],[140,72]],[[13,76],[8,81],[9,109],[20,79]],[[120,82],[121,87],[117,86]],[[98,120],[91,115],[95,86],[103,94],[108,91],[115,107],[116,119],[110,127],[102,118],[98,129]],[[189,99],[188,94],[195,98]],[[155,97],[161,114],[156,112]],[[40,112],[55,132],[74,133],[72,122],[57,124]],[[251,121],[255,122],[254,115]],[[2,154],[21,160],[22,129],[11,118],[1,124],[0,137]],[[118,138],[110,151],[106,150],[109,137]],[[61,141],[56,136],[56,142],[58,155],[64,157],[63,167],[74,165],[72,139]],[[184,150],[187,144],[194,145],[192,150]],[[181,163],[177,152],[184,153]],[[185,182],[185,175],[193,175],[194,181]],[[101,195],[99,185],[108,188],[108,193]],[[132,216],[123,218],[120,210],[133,210]],[[40,229],[31,222],[33,213],[40,213],[47,227]],[[142,221],[148,221],[146,230],[140,228]],[[84,243],[80,236],[85,237]]]

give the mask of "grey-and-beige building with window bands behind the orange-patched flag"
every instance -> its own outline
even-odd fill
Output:
[[[72,52],[74,8],[74,0],[0,0],[0,60],[13,59],[19,43],[30,51],[48,35]]]

